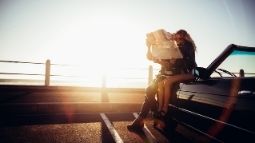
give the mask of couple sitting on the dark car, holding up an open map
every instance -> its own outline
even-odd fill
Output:
[[[181,29],[176,33],[170,34],[164,32],[165,38],[174,41],[179,49],[181,59],[158,59],[153,56],[151,46],[155,40],[147,37],[146,44],[148,47],[147,58],[155,63],[161,65],[161,69],[146,88],[145,101],[142,105],[138,117],[127,126],[129,131],[139,131],[144,126],[144,120],[149,111],[154,112],[154,117],[157,122],[154,126],[157,129],[164,130],[166,127],[165,115],[168,112],[168,104],[173,90],[173,85],[182,81],[193,80],[194,77],[191,73],[192,69],[197,66],[195,61],[196,46],[187,31]],[[157,95],[157,100],[156,100]]]

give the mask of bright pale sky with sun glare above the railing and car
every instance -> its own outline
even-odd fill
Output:
[[[207,67],[229,44],[255,47],[253,0],[0,0],[0,60],[144,67],[146,33],[185,29]],[[2,69],[4,67],[1,67]]]

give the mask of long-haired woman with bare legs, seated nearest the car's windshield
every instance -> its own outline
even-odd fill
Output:
[[[181,29],[169,37],[169,39],[176,41],[183,59],[176,60],[172,64],[172,70],[175,70],[176,74],[165,76],[161,86],[159,86],[161,88],[159,91],[163,92],[158,94],[159,107],[157,117],[159,120],[157,120],[158,122],[155,126],[160,130],[163,130],[165,127],[164,116],[168,111],[168,104],[174,84],[182,81],[192,81],[194,77],[191,71],[197,66],[195,61],[196,46],[187,31]]]

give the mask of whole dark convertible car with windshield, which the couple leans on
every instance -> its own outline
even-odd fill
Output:
[[[174,131],[194,142],[255,143],[255,48],[231,44],[193,74],[171,97]]]

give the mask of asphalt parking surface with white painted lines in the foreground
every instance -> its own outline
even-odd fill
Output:
[[[153,142],[145,134],[129,132],[126,126],[132,122],[132,113],[104,114],[120,137],[120,142]],[[22,115],[14,119],[1,119],[1,143],[111,143],[113,137],[101,114]],[[3,124],[4,123],[4,124]],[[169,142],[152,129],[151,120],[146,122],[151,134],[159,142]],[[179,140],[180,141],[180,140]],[[155,142],[155,141],[154,141]],[[177,142],[177,141],[175,141]]]

